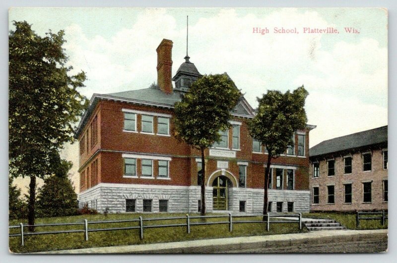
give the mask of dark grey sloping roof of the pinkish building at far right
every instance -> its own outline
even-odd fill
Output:
[[[323,141],[310,148],[310,157],[321,156],[349,149],[357,149],[375,144],[387,144],[388,126],[357,132]]]

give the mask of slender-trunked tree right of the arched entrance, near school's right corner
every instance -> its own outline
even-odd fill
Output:
[[[296,130],[305,129],[307,116],[304,106],[308,95],[303,86],[292,93],[267,91],[262,99],[257,98],[259,102],[257,114],[248,122],[250,135],[261,141],[268,151],[264,182],[264,215],[267,213],[271,159],[285,153],[288,146],[293,143],[292,136]]]

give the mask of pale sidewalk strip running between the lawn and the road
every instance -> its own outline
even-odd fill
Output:
[[[326,230],[313,231],[309,233],[268,235],[253,237],[234,237],[206,240],[193,240],[183,242],[156,243],[145,245],[129,245],[116,247],[99,247],[75,250],[59,250],[39,252],[37,254],[113,254],[113,253],[219,253],[222,249],[238,250],[256,247],[272,247],[288,245],[307,244],[308,242],[335,242],[359,241],[367,238],[385,236],[387,229],[376,230]]]

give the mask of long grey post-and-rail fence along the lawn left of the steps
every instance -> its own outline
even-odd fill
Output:
[[[242,217],[263,217],[265,220],[233,220],[233,218],[242,218]],[[271,217],[275,217],[276,219],[285,218],[296,218],[295,220],[270,220]],[[207,219],[207,218],[228,218],[228,220],[222,221],[212,221],[212,222],[191,222],[192,219]],[[359,217],[357,217],[359,218]],[[143,222],[149,221],[166,221],[166,220],[182,220],[185,219],[186,223],[175,223],[175,224],[156,224],[156,225],[144,225]],[[129,226],[129,227],[109,227],[109,228],[91,228],[88,226],[90,224],[112,224],[112,223],[124,223],[124,222],[138,222],[138,226]],[[60,231],[42,231],[42,232],[24,232],[25,227],[29,227],[32,225],[23,225],[20,223],[19,225],[8,226],[8,229],[19,228],[19,233],[9,233],[9,237],[20,237],[21,245],[24,246],[24,237],[25,236],[33,236],[33,235],[47,235],[47,234],[63,234],[63,233],[79,233],[84,232],[84,240],[88,241],[88,233],[89,232],[99,232],[99,231],[116,231],[116,230],[130,230],[130,229],[139,229],[139,238],[143,239],[143,229],[144,228],[161,228],[161,227],[186,227],[186,231],[190,234],[191,226],[195,225],[213,225],[213,224],[229,224],[229,231],[233,230],[233,223],[242,224],[242,223],[266,223],[266,229],[269,231],[270,224],[273,223],[297,223],[299,225],[299,229],[302,229],[302,214],[250,214],[250,215],[232,215],[229,212],[228,215],[195,215],[190,216],[186,214],[186,217],[160,217],[160,218],[142,218],[139,216],[138,219],[130,219],[130,220],[113,220],[113,221],[91,221],[89,222],[87,219],[84,219],[83,222],[75,222],[75,223],[54,223],[54,224],[37,224],[35,227],[43,227],[43,226],[66,226],[66,225],[84,225],[84,229],[71,229],[71,230],[60,230]]]

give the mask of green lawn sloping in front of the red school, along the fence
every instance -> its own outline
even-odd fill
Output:
[[[190,214],[194,216],[198,214]],[[215,215],[215,214],[207,214]],[[90,221],[105,221],[105,220],[129,220],[137,219],[139,216],[145,218],[154,217],[178,217],[186,216],[182,213],[167,213],[167,214],[103,214],[96,215],[77,215],[68,217],[50,217],[50,218],[37,218],[36,224],[45,223],[66,223],[66,222],[83,222],[84,219]],[[261,220],[262,217],[242,217],[233,218],[233,222],[243,220]],[[228,221],[228,217],[223,218],[197,218],[191,219],[194,222],[209,222],[209,221]],[[279,220],[272,218],[271,220]],[[9,225],[18,225],[20,222],[27,224],[26,220],[11,220]],[[160,224],[186,224],[186,218],[173,219],[167,221],[144,221],[143,225],[160,225]],[[88,228],[115,228],[115,227],[128,227],[138,226],[138,222],[121,222],[121,223],[100,223],[89,224]],[[59,231],[69,229],[84,229],[84,225],[72,226],[43,226],[36,227],[36,232],[43,231]],[[25,233],[27,228],[24,228]],[[10,233],[19,233],[20,229],[10,229]],[[121,245],[134,245],[134,244],[148,244],[148,243],[162,243],[174,242],[184,240],[198,240],[210,238],[227,238],[227,237],[240,237],[240,236],[259,236],[259,235],[274,235],[274,234],[288,234],[307,232],[306,229],[299,230],[297,223],[277,223],[270,224],[270,231],[266,231],[265,223],[233,223],[233,231],[229,232],[229,224],[216,224],[216,225],[192,225],[191,233],[187,233],[186,226],[177,227],[162,227],[162,228],[144,228],[143,240],[139,239],[139,229],[131,230],[112,230],[100,232],[88,232],[88,241],[84,240],[84,233],[63,233],[63,234],[47,234],[47,235],[34,235],[25,236],[25,245],[21,246],[20,237],[9,237],[9,248],[14,253],[27,253],[38,251],[51,251],[51,250],[64,250],[64,249],[79,249],[90,247],[106,247],[106,246],[121,246]]]

